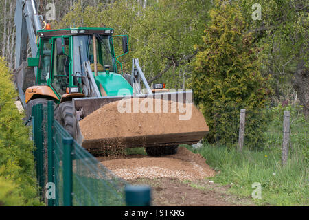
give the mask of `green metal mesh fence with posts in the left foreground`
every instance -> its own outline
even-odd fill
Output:
[[[54,120],[54,102],[32,108],[32,125],[37,179],[48,206],[150,204],[150,188],[128,187]]]

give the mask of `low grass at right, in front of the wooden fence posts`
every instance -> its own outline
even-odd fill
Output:
[[[211,178],[215,183],[231,185],[230,192],[242,197],[251,197],[253,183],[262,186],[262,198],[254,199],[258,205],[308,206],[308,164],[293,158],[286,166],[280,163],[279,155],[271,151],[248,151],[239,153],[225,147],[204,145],[191,151],[205,157],[207,164],[219,171]],[[267,156],[267,157],[266,157]]]

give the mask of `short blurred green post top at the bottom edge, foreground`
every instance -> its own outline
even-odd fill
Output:
[[[126,186],[126,206],[150,206],[151,188],[150,186]]]

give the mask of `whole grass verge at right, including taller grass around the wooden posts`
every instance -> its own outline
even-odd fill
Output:
[[[264,150],[242,152],[225,146],[204,144],[195,149],[186,146],[190,151],[205,157],[207,164],[218,171],[211,180],[221,185],[231,185],[229,192],[242,197],[252,198],[254,183],[262,187],[261,199],[253,199],[257,205],[270,206],[308,206],[308,123],[304,126],[293,126],[290,140],[288,163],[281,163],[280,133],[271,126],[272,135],[268,132]],[[278,126],[279,127],[279,126]]]

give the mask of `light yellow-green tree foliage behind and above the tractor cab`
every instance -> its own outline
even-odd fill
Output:
[[[190,76],[188,63],[196,54],[193,45],[201,42],[209,7],[208,0],[159,0],[144,7],[135,0],[76,5],[56,27],[108,26],[115,34],[128,34],[130,53],[120,58],[125,72],[130,73],[132,58],[139,58],[150,83],[184,88]]]

